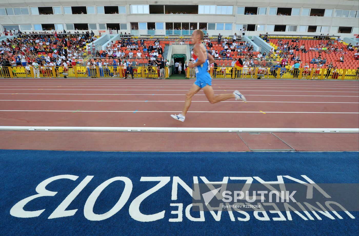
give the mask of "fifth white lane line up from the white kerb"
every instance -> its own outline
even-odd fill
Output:
[[[229,87],[229,86],[224,86],[222,85],[223,88],[238,88],[238,87]],[[189,88],[188,86],[43,86],[43,85],[38,85],[38,86],[0,86],[0,88],[3,87],[12,87],[14,89],[22,88],[22,87],[70,87],[70,88],[83,88],[83,87],[89,87],[89,88]],[[217,87],[217,85],[213,88],[221,88],[221,87]],[[359,90],[359,88],[300,88],[300,87],[241,87],[240,89],[242,90],[242,88],[281,88],[281,89],[355,89],[355,90]],[[1,90],[6,90],[6,89],[1,89]],[[80,90],[80,89],[79,89]]]

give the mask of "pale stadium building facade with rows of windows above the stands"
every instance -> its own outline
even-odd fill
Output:
[[[248,36],[268,32],[353,38],[359,33],[358,9],[358,0],[2,0],[0,30],[188,35],[204,29],[209,35],[233,35],[244,28]]]

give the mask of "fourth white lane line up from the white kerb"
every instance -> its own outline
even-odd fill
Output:
[[[89,90],[89,91],[188,91],[188,89],[0,89],[0,90]],[[359,93],[353,91],[307,91],[307,90],[243,90],[256,92],[320,92],[320,93]],[[214,91],[224,91],[214,89]]]

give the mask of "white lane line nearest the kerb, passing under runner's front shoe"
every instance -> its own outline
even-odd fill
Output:
[[[0,112],[146,112],[146,113],[178,113],[181,111],[144,111],[144,110],[0,110]],[[191,113],[263,113],[263,112],[227,112],[227,111],[189,111]],[[266,113],[315,113],[315,114],[359,114],[359,112],[267,112]]]

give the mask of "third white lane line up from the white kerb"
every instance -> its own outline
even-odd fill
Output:
[[[0,94],[13,94],[13,93],[0,93]],[[131,93],[17,93],[26,95],[152,95],[150,93],[145,94],[131,94]],[[184,96],[185,94],[154,94],[154,95],[178,95]],[[204,96],[205,94],[195,94],[195,96]],[[263,94],[244,94],[246,96],[295,96],[295,97],[359,97],[359,96],[339,96],[339,95],[263,95]]]

